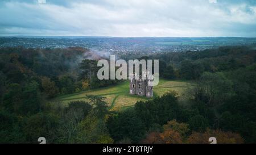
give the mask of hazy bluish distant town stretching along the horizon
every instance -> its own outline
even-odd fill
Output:
[[[220,46],[256,45],[248,37],[0,37],[0,48],[82,47],[116,55],[203,51]]]

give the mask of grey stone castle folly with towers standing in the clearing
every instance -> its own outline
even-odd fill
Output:
[[[148,86],[150,79],[135,79],[134,76],[130,79],[130,94],[139,95],[151,98],[153,97],[153,86]]]

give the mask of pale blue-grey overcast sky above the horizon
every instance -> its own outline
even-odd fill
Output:
[[[1,0],[0,35],[256,37],[256,1]]]

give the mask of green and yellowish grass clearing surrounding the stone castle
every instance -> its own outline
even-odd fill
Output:
[[[174,90],[181,96],[187,87],[190,87],[190,82],[184,81],[167,81],[160,79],[159,85],[154,87],[154,96],[163,95],[167,91]],[[146,97],[139,97],[129,94],[129,81],[125,81],[116,86],[104,87],[101,89],[82,91],[80,93],[63,95],[56,98],[60,100],[64,105],[67,105],[71,101],[86,100],[85,95],[101,95],[106,97],[105,101],[108,103],[112,110],[123,110],[134,106],[138,100],[148,100]]]

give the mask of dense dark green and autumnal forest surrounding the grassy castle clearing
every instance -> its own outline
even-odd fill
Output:
[[[136,55],[120,58],[138,58]],[[256,50],[220,47],[167,52],[160,77],[189,80],[187,100],[176,92],[110,111],[104,98],[56,100],[58,95],[115,85],[97,79],[101,56],[84,48],[0,49],[0,143],[256,143]]]

